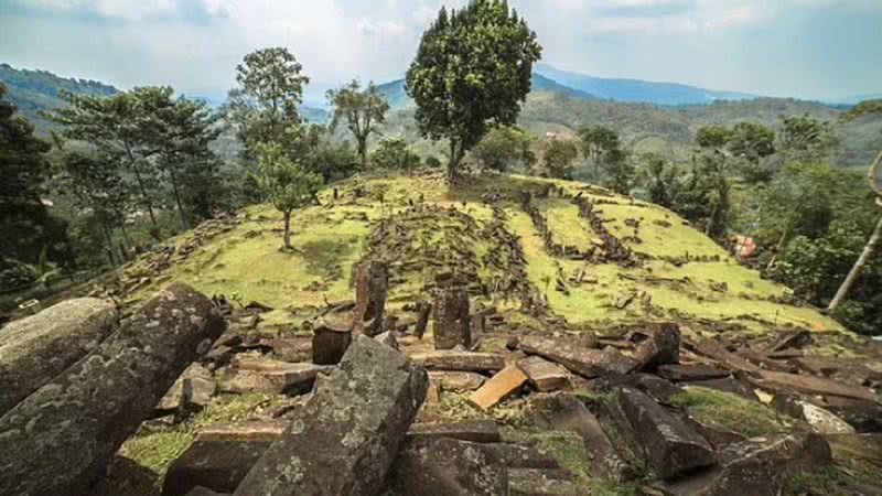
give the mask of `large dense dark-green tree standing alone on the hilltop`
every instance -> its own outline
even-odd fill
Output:
[[[406,89],[422,134],[450,141],[450,179],[490,125],[515,123],[540,55],[536,33],[504,0],[441,9],[422,35]]]

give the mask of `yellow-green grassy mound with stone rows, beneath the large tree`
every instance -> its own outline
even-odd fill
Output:
[[[594,186],[501,175],[451,191],[429,174],[353,179],[334,188],[337,200],[327,188],[322,206],[294,214],[294,254],[278,249],[280,214],[256,205],[220,234],[197,229],[127,267],[118,290],[138,301],[186,281],[260,301],[277,309],[276,323],[297,325],[327,302],[352,299],[352,268],[369,255],[390,265],[394,308],[430,298],[435,279],[454,272],[476,304],[525,322],[540,315],[573,328],[675,319],[697,331],[841,330],[814,309],[784,303],[786,288],[742,267],[674,213]],[[523,207],[527,192],[551,241]],[[630,251],[626,260],[612,259],[604,234],[580,217],[579,194]],[[567,255],[549,242],[568,247]],[[547,301],[547,312],[521,313],[525,301]]]

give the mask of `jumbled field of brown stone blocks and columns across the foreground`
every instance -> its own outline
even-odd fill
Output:
[[[387,278],[362,263],[309,336],[266,337],[271,309],[184,284],[121,324],[90,299],[13,322],[0,494],[882,494],[882,370],[813,356],[808,332],[513,332],[455,278],[389,312]],[[159,482],[120,468],[127,439],[256,392],[281,401],[202,423]]]

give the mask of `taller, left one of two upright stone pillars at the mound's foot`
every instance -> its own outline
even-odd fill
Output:
[[[389,284],[389,269],[370,260],[357,268],[353,331],[368,336],[383,332],[383,311]]]

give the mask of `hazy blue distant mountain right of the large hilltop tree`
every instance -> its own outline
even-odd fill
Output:
[[[615,101],[674,106],[711,104],[718,100],[746,100],[757,97],[745,93],[718,91],[679,83],[593,77],[561,71],[548,64],[537,65],[535,72],[560,85],[588,93],[596,98]]]

